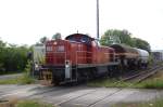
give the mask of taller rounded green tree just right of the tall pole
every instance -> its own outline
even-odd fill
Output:
[[[111,45],[112,43],[124,43],[133,46],[130,32],[127,30],[109,29],[101,37],[100,43],[102,45]]]

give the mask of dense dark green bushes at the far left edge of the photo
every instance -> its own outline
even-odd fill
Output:
[[[28,50],[26,45],[18,46],[0,40],[0,73],[23,70],[27,63]]]

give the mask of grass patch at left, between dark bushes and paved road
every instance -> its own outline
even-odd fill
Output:
[[[35,80],[29,77],[26,72],[23,73],[23,76],[8,79],[8,80],[0,80],[0,84],[30,84],[34,83]]]

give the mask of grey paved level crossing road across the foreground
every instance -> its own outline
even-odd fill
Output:
[[[41,99],[57,107],[111,107],[116,103],[147,102],[163,97],[163,90],[116,88],[0,85],[0,98]]]

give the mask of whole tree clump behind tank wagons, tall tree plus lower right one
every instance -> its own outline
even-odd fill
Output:
[[[101,37],[100,43],[102,45],[124,43],[150,52],[150,44],[147,41],[139,38],[131,38],[130,36],[131,34],[127,30],[109,29]]]

